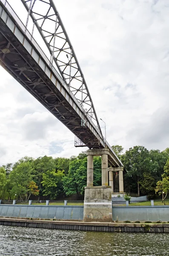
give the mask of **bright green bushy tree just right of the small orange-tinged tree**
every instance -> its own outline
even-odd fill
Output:
[[[61,192],[63,192],[63,177],[64,171],[55,169],[43,173],[43,195],[50,196],[50,199],[55,199]]]

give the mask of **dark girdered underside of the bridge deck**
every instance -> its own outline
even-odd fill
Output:
[[[90,129],[81,126],[80,116],[2,20],[0,64],[86,146],[103,148]]]

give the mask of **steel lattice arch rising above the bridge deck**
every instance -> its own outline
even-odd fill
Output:
[[[51,66],[53,62],[56,64],[63,81],[101,132],[83,72],[53,0],[21,0],[21,2],[28,11],[26,26],[30,15],[50,52]],[[34,26],[32,35],[33,31]]]

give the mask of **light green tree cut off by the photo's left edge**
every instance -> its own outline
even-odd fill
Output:
[[[8,199],[8,195],[6,170],[4,167],[0,167],[0,198]]]

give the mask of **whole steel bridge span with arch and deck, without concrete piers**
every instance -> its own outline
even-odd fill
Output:
[[[86,80],[53,0],[20,1],[27,11],[26,24],[8,1],[0,0],[1,66],[72,131],[76,147],[109,148],[109,166],[123,166],[103,137]],[[34,39],[35,32],[45,49]]]

